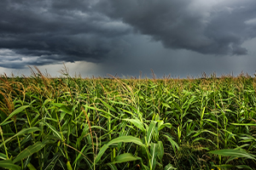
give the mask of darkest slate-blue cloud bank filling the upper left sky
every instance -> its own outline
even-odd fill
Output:
[[[92,9],[95,3],[95,0],[3,0],[0,48],[11,49],[17,56],[40,57],[32,59],[34,62],[24,61],[23,65],[99,62],[120,51],[117,48],[125,48],[119,37],[128,34],[131,27],[98,13]],[[13,67],[3,60],[6,59],[2,59],[2,66]]]

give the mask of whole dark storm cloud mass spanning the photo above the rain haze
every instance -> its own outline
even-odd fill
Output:
[[[1,0],[0,66],[103,62],[127,56],[132,34],[206,57],[244,55],[255,8],[255,0]]]

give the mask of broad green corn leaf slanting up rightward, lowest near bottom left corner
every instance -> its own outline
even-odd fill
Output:
[[[32,154],[42,150],[44,146],[45,144],[41,142],[37,142],[36,144],[28,146],[25,150],[22,150],[18,156],[15,157],[14,163],[26,158],[27,156],[32,156]]]

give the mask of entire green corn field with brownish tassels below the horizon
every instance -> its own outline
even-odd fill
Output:
[[[0,168],[253,169],[256,78],[0,78]]]

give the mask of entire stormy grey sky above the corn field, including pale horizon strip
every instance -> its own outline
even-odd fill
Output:
[[[1,0],[0,16],[0,74],[256,72],[255,0]]]

